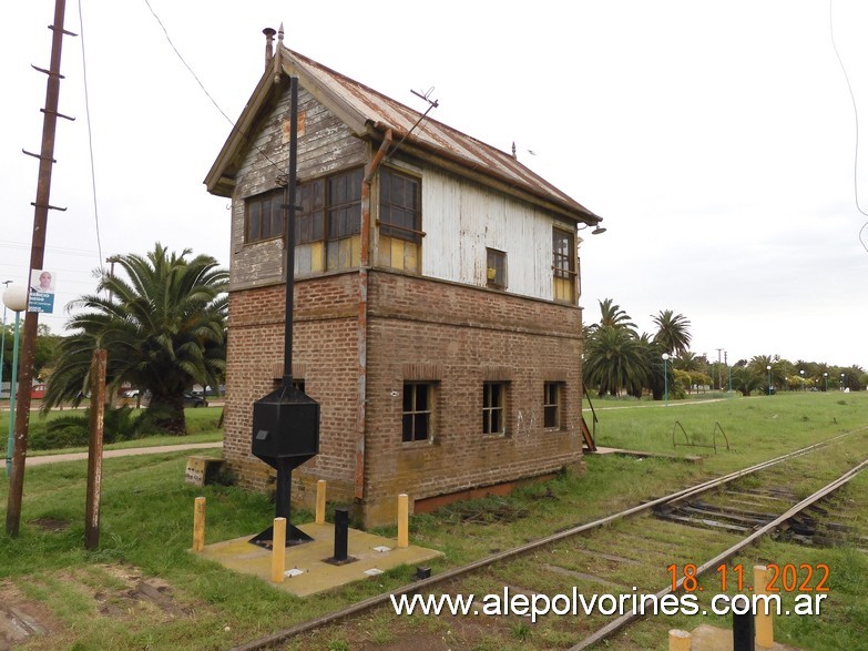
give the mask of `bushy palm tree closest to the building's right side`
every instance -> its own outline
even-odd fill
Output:
[[[641,396],[647,383],[643,346],[626,328],[601,326],[586,340],[583,375],[585,385],[596,386],[601,397],[622,391]]]

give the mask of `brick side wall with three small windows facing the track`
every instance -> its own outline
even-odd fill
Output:
[[[429,377],[426,377],[429,376]],[[401,441],[405,380],[435,383],[430,443]],[[507,386],[506,435],[482,434],[482,384]],[[563,427],[542,423],[563,383]],[[581,458],[581,312],[481,287],[372,273],[368,316],[366,520],[420,500],[538,476]],[[398,395],[396,396],[395,393]]]

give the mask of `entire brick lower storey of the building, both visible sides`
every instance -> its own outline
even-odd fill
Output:
[[[358,423],[357,271],[296,282],[294,368],[320,404],[320,454],[294,472],[294,500],[350,501]],[[284,285],[229,297],[224,455],[242,486],[265,490],[272,470],[252,457],[252,403],[274,388],[283,360]],[[365,499],[368,526],[411,501],[544,475],[581,458],[581,312],[483,287],[371,271],[367,316]],[[435,384],[433,436],[401,441],[405,380]],[[482,434],[482,383],[507,386],[506,435]],[[543,383],[563,386],[559,430],[543,428]]]

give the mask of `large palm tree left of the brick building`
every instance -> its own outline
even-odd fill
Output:
[[[228,272],[210,255],[187,258],[160,243],[145,257],[115,257],[126,278],[99,274],[96,294],[71,307],[74,330],[58,349],[43,410],[61,401],[79,404],[89,390],[93,350],[106,350],[106,383],[150,391],[145,416],[156,429],[185,434],[184,391],[193,384],[216,385],[226,367],[226,284]]]

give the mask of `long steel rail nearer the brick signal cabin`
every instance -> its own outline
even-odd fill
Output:
[[[351,606],[348,606],[346,608],[343,608],[340,610],[336,610],[329,613],[326,613],[321,617],[315,618],[313,620],[303,622],[300,624],[296,624],[294,627],[282,629],[279,631],[275,631],[274,633],[270,633],[268,635],[265,635],[264,638],[259,638],[258,640],[253,640],[251,642],[247,642],[245,644],[242,644],[239,647],[233,647],[229,651],[258,651],[259,649],[268,649],[275,644],[278,644],[285,640],[288,640],[289,638],[294,638],[296,635],[300,635],[303,633],[314,631],[323,625],[335,623],[337,621],[350,618],[355,614],[359,614],[361,612],[365,612],[366,610],[369,610],[371,608],[375,608],[377,606],[381,606],[384,603],[387,603],[391,597],[399,597],[401,594],[408,594],[411,592],[420,592],[427,588],[431,588],[433,586],[437,586],[438,583],[445,583],[447,581],[450,581],[452,579],[460,578],[464,574],[469,574],[470,572],[473,572],[476,570],[486,568],[490,564],[493,564],[496,562],[500,562],[503,560],[511,559],[513,557],[522,556],[524,553],[528,553],[529,551],[533,551],[535,549],[539,549],[540,547],[544,547],[547,545],[550,545],[552,542],[558,542],[560,540],[563,540],[565,538],[572,538],[573,536],[578,536],[579,533],[583,533],[585,531],[591,531],[593,529],[599,529],[601,527],[604,527],[611,522],[614,522],[616,520],[621,520],[623,518],[627,518],[630,516],[634,516],[636,513],[641,513],[643,511],[653,509],[656,506],[660,506],[662,503],[666,503],[670,501],[674,501],[677,499],[683,499],[687,497],[693,497],[695,495],[699,495],[703,492],[706,492],[708,490],[712,490],[714,488],[724,486],[725,484],[728,484],[729,481],[734,481],[741,477],[745,477],[747,475],[750,475],[753,472],[758,472],[759,470],[764,470],[765,468],[769,468],[772,466],[775,466],[777,464],[780,464],[783,461],[786,461],[788,459],[793,459],[796,457],[800,457],[803,455],[807,455],[818,448],[826,447],[828,445],[831,445],[834,443],[837,443],[841,438],[845,438],[847,436],[850,436],[852,434],[862,431],[865,429],[868,429],[868,426],[859,427],[856,429],[851,429],[849,431],[841,433],[839,435],[836,435],[834,437],[827,438],[825,440],[818,441],[816,444],[811,444],[809,446],[806,446],[804,448],[799,448],[797,450],[793,450],[790,452],[787,452],[785,455],[780,455],[778,457],[775,457],[773,459],[768,459],[766,461],[762,461],[759,464],[755,464],[753,466],[748,466],[747,468],[743,468],[741,470],[735,470],[733,472],[729,472],[728,475],[724,475],[722,477],[718,477],[716,479],[709,479],[708,481],[703,481],[702,484],[697,484],[695,486],[691,486],[688,488],[683,488],[681,490],[676,490],[675,492],[672,492],[670,495],[666,495],[661,498],[656,498],[654,500],[643,502],[641,505],[631,507],[629,509],[625,509],[623,511],[619,511],[616,513],[612,513],[610,516],[606,516],[604,518],[600,518],[598,520],[593,520],[592,522],[586,522],[584,525],[578,525],[574,527],[570,527],[568,529],[564,529],[562,531],[558,531],[555,533],[552,533],[551,536],[547,536],[545,538],[540,538],[538,540],[533,540],[531,542],[528,542],[525,545],[522,545],[520,547],[514,547],[512,549],[507,549],[504,551],[501,551],[499,553],[494,553],[491,556],[488,556],[486,558],[482,558],[480,560],[473,561],[471,563],[468,563],[466,566],[461,566],[458,568],[453,568],[451,570],[447,570],[440,574],[430,577],[428,579],[422,579],[420,581],[415,581],[412,583],[408,583],[406,586],[402,586],[396,590],[391,590],[389,592],[385,592],[382,594],[377,594],[375,597],[370,597],[368,599],[365,599],[364,601],[359,601],[357,603],[354,603]]]

